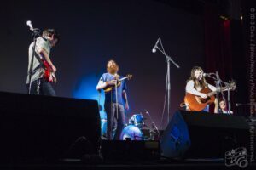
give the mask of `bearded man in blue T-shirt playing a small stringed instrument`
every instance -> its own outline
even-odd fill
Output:
[[[107,139],[112,140],[119,139],[125,126],[125,110],[129,109],[129,105],[126,94],[126,83],[125,81],[118,81],[121,79],[118,75],[119,65],[114,60],[109,60],[107,71],[100,78],[96,89],[104,89],[105,91],[104,108],[107,113]],[[114,123],[117,124],[115,125]],[[113,127],[117,128],[114,137]]]

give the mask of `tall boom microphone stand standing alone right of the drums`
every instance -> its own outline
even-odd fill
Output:
[[[170,120],[170,102],[171,102],[171,74],[170,74],[170,62],[172,62],[173,65],[175,65],[177,68],[180,68],[179,65],[177,65],[176,62],[172,60],[172,58],[166,54],[165,49],[163,47],[163,44],[161,42],[161,39],[159,38],[161,48],[158,48],[156,45],[155,48],[157,48],[162,54],[166,56],[166,64],[167,64],[167,72],[166,72],[166,92],[167,93],[167,123]],[[166,110],[166,95],[165,95],[165,102],[164,102],[164,109],[162,113],[162,119],[161,119],[161,127],[163,126],[163,117]]]

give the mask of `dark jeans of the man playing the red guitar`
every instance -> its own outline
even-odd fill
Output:
[[[29,90],[29,84],[26,84],[27,93]],[[31,84],[31,92],[30,94],[39,94],[39,95],[49,95],[55,96],[55,90],[51,86],[51,82],[44,81],[43,78],[39,78],[35,80]]]

